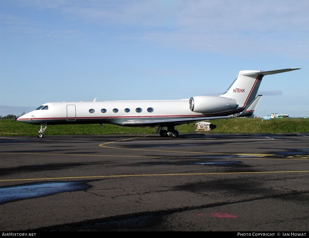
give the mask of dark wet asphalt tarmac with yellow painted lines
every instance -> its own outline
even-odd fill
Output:
[[[0,230],[309,230],[309,134],[0,137]]]

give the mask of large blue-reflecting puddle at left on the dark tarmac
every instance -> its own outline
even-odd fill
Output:
[[[89,181],[87,181],[89,182]],[[0,204],[17,200],[37,198],[50,194],[86,190],[90,188],[85,181],[74,182],[42,182],[0,188]]]

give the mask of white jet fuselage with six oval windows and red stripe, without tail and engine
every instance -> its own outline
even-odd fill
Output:
[[[221,111],[220,115],[233,112]],[[234,110],[235,111],[235,110]],[[189,99],[149,101],[105,101],[105,102],[49,102],[40,109],[18,118],[30,124],[87,124],[110,123],[126,126],[130,120],[147,120],[149,124],[158,120],[177,120],[205,117],[218,113],[196,113],[189,108]],[[177,122],[175,122],[177,124]],[[159,124],[159,123],[158,123]],[[145,123],[129,126],[146,126]]]

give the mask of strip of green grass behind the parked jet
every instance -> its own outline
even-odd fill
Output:
[[[262,121],[261,118],[229,118],[210,120],[216,128],[205,133],[291,133],[309,132],[308,118],[282,118]],[[194,132],[194,123],[176,126],[180,133]],[[40,126],[10,119],[0,120],[1,136],[37,136]],[[155,127],[120,127],[111,124],[76,124],[48,126],[48,135],[154,134]]]

